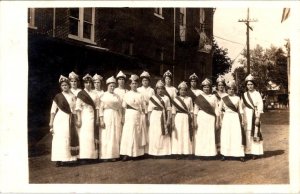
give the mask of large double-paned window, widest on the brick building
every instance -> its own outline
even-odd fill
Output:
[[[70,8],[69,38],[96,44],[95,8]]]

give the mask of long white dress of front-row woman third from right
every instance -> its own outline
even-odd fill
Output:
[[[219,115],[217,98],[212,94],[202,94],[215,110],[215,114]],[[215,141],[215,116],[207,114],[199,109],[195,104],[194,114],[197,115],[198,128],[195,132],[195,155],[196,156],[215,156],[217,155]]]

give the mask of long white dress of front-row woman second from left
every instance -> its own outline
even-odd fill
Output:
[[[94,101],[96,110],[99,110],[99,97],[94,91],[84,89]],[[79,129],[79,158],[96,159],[98,157],[95,146],[94,135],[94,110],[93,107],[83,102],[81,99],[76,100],[76,111],[81,111],[81,127]]]

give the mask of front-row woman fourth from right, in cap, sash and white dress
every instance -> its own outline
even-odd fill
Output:
[[[174,98],[172,107],[172,154],[182,159],[193,154],[193,102],[187,96],[186,82],[181,82],[178,89],[179,96]]]

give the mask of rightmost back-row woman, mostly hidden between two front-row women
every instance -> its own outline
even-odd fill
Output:
[[[224,116],[224,109],[220,109],[220,104],[221,104],[221,99],[224,96],[227,96],[227,93],[225,91],[225,79],[223,76],[219,76],[216,80],[216,84],[217,84],[217,91],[214,92],[215,96],[217,97],[218,100],[218,108],[220,110],[220,125],[222,126],[222,120],[223,120],[223,116]],[[220,134],[221,131],[220,129],[216,130],[216,144],[217,144],[217,150],[218,152],[220,152]]]

